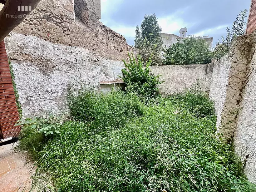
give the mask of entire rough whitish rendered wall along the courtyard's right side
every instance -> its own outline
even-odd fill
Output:
[[[238,37],[230,52],[214,63],[210,99],[215,102],[217,128],[234,141],[248,179],[256,183],[256,34]]]

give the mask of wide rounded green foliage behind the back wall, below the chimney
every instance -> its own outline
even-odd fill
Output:
[[[209,44],[204,39],[183,38],[164,50],[164,65],[204,64],[211,62]]]

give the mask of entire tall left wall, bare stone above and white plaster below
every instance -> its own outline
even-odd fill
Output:
[[[5,38],[24,117],[63,113],[68,87],[121,75],[134,49],[99,18],[100,0],[42,0]]]

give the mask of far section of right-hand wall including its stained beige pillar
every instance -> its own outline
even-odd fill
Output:
[[[209,97],[215,102],[218,131],[228,140],[234,134],[247,66],[254,50],[254,35],[241,36],[233,41],[229,54],[214,63]]]

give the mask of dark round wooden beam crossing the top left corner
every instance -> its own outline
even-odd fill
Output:
[[[27,17],[40,1],[41,0],[6,1],[0,11],[0,42]]]

